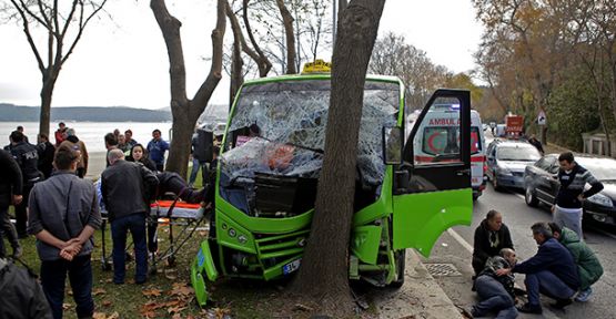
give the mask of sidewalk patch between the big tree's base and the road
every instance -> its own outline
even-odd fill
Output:
[[[406,249],[402,288],[375,297],[378,318],[464,318],[413,249]]]

